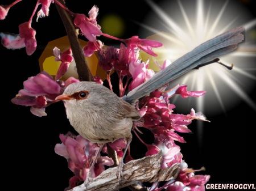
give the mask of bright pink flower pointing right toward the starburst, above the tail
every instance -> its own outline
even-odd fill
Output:
[[[155,40],[149,40],[149,39],[139,39],[138,36],[133,36],[130,39],[124,40],[125,44],[131,48],[131,49],[141,49],[147,54],[150,54],[151,56],[158,56],[158,54],[155,54],[151,47],[158,48],[163,46],[162,43],[155,41]]]

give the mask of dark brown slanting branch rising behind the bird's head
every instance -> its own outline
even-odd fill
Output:
[[[57,0],[57,1],[59,1],[62,5],[65,6],[64,0]],[[76,62],[76,68],[77,68],[77,73],[79,75],[79,80],[94,82],[93,75],[92,73],[90,73],[90,69],[85,61],[84,52],[82,51],[80,43],[77,40],[78,34],[76,32],[75,25],[73,24],[73,20],[74,20],[73,17],[67,11],[65,11],[59,5],[57,5],[57,3],[55,3],[55,5],[57,7],[60,18],[64,24],[64,27],[68,35],[69,44],[71,46],[73,57]]]

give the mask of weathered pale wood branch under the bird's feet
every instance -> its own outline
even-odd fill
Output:
[[[171,167],[162,169],[161,163],[162,152],[142,159],[131,160],[129,163],[123,165],[123,179],[121,185],[116,175],[117,167],[115,167],[106,169],[101,175],[95,177],[88,185],[88,189],[82,184],[70,191],[113,191],[125,186],[136,185],[137,182],[156,182],[176,179],[180,171],[180,164],[176,163]]]

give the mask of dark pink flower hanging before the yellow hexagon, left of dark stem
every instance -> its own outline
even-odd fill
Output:
[[[53,49],[53,54],[55,56],[55,61],[61,61],[60,67],[57,71],[57,74],[55,76],[56,80],[59,80],[63,75],[68,71],[68,67],[70,63],[73,61],[73,56],[72,56],[72,50],[69,48],[68,50],[65,50],[60,57],[60,49],[55,47]]]

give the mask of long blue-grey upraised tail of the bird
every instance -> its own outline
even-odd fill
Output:
[[[166,67],[166,69],[159,71],[152,78],[137,88],[134,88],[134,90],[122,97],[122,99],[133,105],[139,98],[150,94],[150,92],[187,73],[201,63],[212,60],[222,54],[232,52],[237,48],[237,44],[243,41],[243,35],[241,33],[243,30],[243,27],[231,29],[197,46],[191,52]]]

